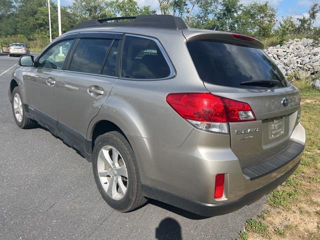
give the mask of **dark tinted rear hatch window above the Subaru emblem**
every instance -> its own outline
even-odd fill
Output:
[[[261,49],[210,39],[189,41],[186,44],[195,68],[204,82],[254,88],[260,86],[243,83],[273,80],[273,83],[275,82],[273,87],[286,86],[285,78],[279,68]]]

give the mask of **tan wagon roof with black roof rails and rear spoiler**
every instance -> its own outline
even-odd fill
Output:
[[[120,20],[132,20],[120,22]],[[251,47],[263,48],[263,44],[256,41],[244,41],[236,39],[231,32],[216,31],[210,29],[188,28],[182,18],[172,15],[139,15],[129,17],[111,17],[84,21],[64,33],[78,32],[112,32],[129,33],[152,36],[155,38],[172,41],[173,36],[183,37],[187,40],[200,38],[216,38],[228,40],[230,43],[244,44]],[[253,38],[252,38],[253,39]]]

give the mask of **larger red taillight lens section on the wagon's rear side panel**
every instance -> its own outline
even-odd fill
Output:
[[[206,122],[226,122],[226,112],[220,97],[208,92],[170,93],[169,105],[184,119]]]

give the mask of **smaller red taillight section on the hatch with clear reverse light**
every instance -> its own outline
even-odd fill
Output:
[[[253,111],[248,103],[224,97],[223,101],[227,108],[229,122],[255,120]]]

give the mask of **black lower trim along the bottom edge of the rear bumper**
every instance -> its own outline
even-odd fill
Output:
[[[297,168],[300,161],[298,161],[291,169],[285,172],[280,177],[276,178],[274,181],[262,186],[244,196],[238,200],[226,202],[226,203],[203,203],[196,201],[173,192],[167,191],[162,188],[152,187],[145,184],[142,184],[143,194],[146,197],[156,199],[170,205],[182,208],[184,210],[193,212],[201,216],[215,216],[222,215],[232,211],[235,211],[242,206],[249,205],[254,201],[260,199],[263,195],[271,192],[278,185],[284,182]]]

